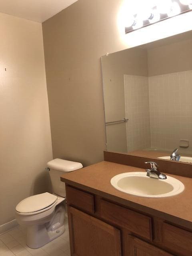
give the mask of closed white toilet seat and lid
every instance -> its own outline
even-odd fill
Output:
[[[16,206],[16,212],[20,215],[33,215],[45,212],[55,206],[57,200],[57,196],[48,192],[30,196]]]

